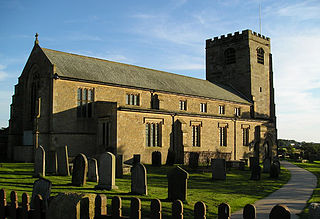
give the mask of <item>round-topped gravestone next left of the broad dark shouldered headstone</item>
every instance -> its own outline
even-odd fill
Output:
[[[131,193],[148,195],[147,170],[141,163],[131,168]]]

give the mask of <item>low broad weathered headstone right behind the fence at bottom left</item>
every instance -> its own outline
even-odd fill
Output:
[[[50,200],[46,219],[94,218],[95,196],[59,193]]]

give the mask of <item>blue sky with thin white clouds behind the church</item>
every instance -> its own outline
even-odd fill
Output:
[[[320,1],[0,0],[0,127],[39,33],[41,47],[205,79],[205,40],[271,38],[278,138],[320,142]]]

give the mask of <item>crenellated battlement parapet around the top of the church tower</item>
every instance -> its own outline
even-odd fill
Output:
[[[206,46],[208,47],[212,44],[222,43],[222,42],[226,42],[226,41],[242,40],[244,38],[248,38],[250,35],[256,36],[256,37],[264,39],[266,41],[270,41],[269,37],[261,35],[257,32],[253,32],[252,30],[243,30],[241,33],[239,31],[237,31],[234,34],[228,33],[227,35],[221,35],[220,37],[214,37],[213,39],[207,39]]]

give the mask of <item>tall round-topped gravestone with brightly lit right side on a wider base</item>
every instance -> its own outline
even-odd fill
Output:
[[[110,152],[105,152],[99,158],[99,183],[96,189],[112,190],[116,186],[116,158]]]

